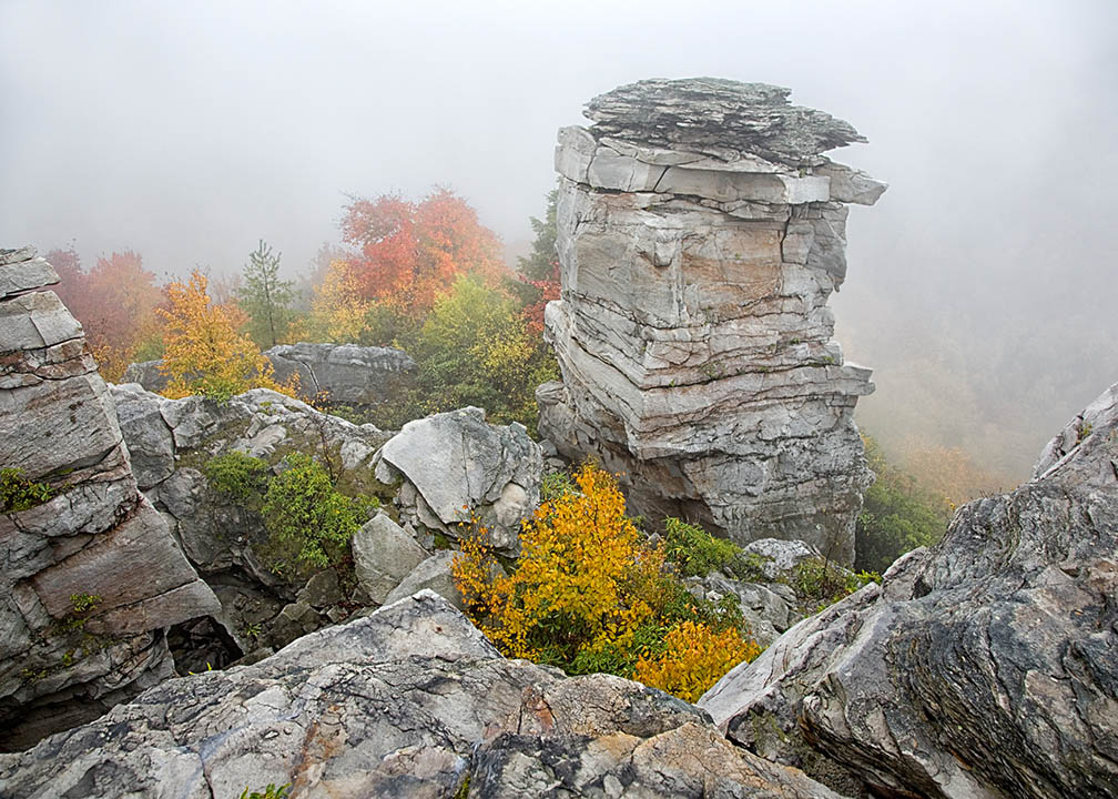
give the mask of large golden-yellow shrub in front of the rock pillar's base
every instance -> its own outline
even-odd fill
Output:
[[[521,533],[521,558],[490,581],[481,536],[463,542],[452,573],[471,619],[511,657],[570,662],[595,642],[624,645],[653,614],[645,600],[663,553],[643,545],[612,476],[585,466],[578,492],[543,502]]]

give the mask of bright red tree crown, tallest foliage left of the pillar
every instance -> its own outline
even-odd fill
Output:
[[[392,195],[354,199],[342,238],[360,248],[352,273],[362,298],[409,316],[429,311],[459,274],[496,279],[505,272],[500,238],[448,189],[419,204]]]

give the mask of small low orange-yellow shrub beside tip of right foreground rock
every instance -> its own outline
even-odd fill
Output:
[[[664,637],[663,654],[637,660],[635,679],[695,702],[722,675],[760,652],[732,627],[717,632],[702,622],[684,621]]]

